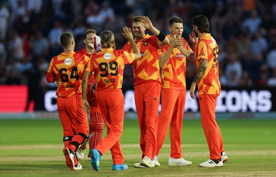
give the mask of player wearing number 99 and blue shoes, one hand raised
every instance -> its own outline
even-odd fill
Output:
[[[101,156],[110,149],[112,154],[113,170],[128,169],[124,164],[124,156],[121,151],[120,137],[124,125],[124,94],[121,91],[123,83],[124,66],[133,60],[141,58],[141,54],[135,45],[130,28],[124,28],[124,37],[130,41],[133,53],[124,50],[115,50],[115,37],[111,31],[101,34],[102,50],[92,54],[86,72],[83,76],[83,109],[89,110],[86,98],[87,80],[90,73],[95,72],[96,96],[101,110],[101,116],[106,123],[108,134],[95,147],[90,150],[92,168],[99,170]]]

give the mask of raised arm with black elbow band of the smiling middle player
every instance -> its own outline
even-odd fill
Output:
[[[155,34],[155,36],[157,36],[157,38],[159,39],[158,41],[159,46],[164,46],[170,43],[170,40],[168,39],[168,37],[166,37],[163,33],[161,33],[160,30],[155,28],[148,17],[141,16],[141,22],[146,29],[150,30],[150,32],[152,32],[153,34]]]

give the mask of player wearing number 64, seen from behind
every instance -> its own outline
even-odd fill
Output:
[[[57,110],[63,127],[63,154],[70,169],[82,169],[75,152],[88,134],[88,119],[83,112],[81,82],[88,56],[77,54],[71,33],[60,37],[63,52],[50,61],[47,81],[57,81]]]

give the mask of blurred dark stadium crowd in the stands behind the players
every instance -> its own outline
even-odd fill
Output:
[[[83,48],[88,28],[112,30],[117,49],[126,39],[124,26],[136,15],[147,15],[168,34],[168,19],[184,20],[184,38],[193,30],[191,17],[204,14],[219,44],[222,87],[276,86],[276,1],[273,0],[1,0],[0,85],[28,85],[47,90],[46,70],[52,56],[62,52],[59,37],[75,35]],[[187,85],[195,65],[187,62]],[[124,89],[132,88],[131,65],[124,72]],[[188,86],[189,87],[189,86]]]

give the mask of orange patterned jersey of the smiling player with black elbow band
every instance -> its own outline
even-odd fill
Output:
[[[146,36],[135,43],[139,48],[141,59],[133,61],[133,75],[134,75],[134,85],[139,85],[148,80],[157,81],[160,83],[160,73],[159,73],[159,46],[158,39],[156,36]],[[128,52],[133,52],[130,43],[126,43],[122,50]]]

